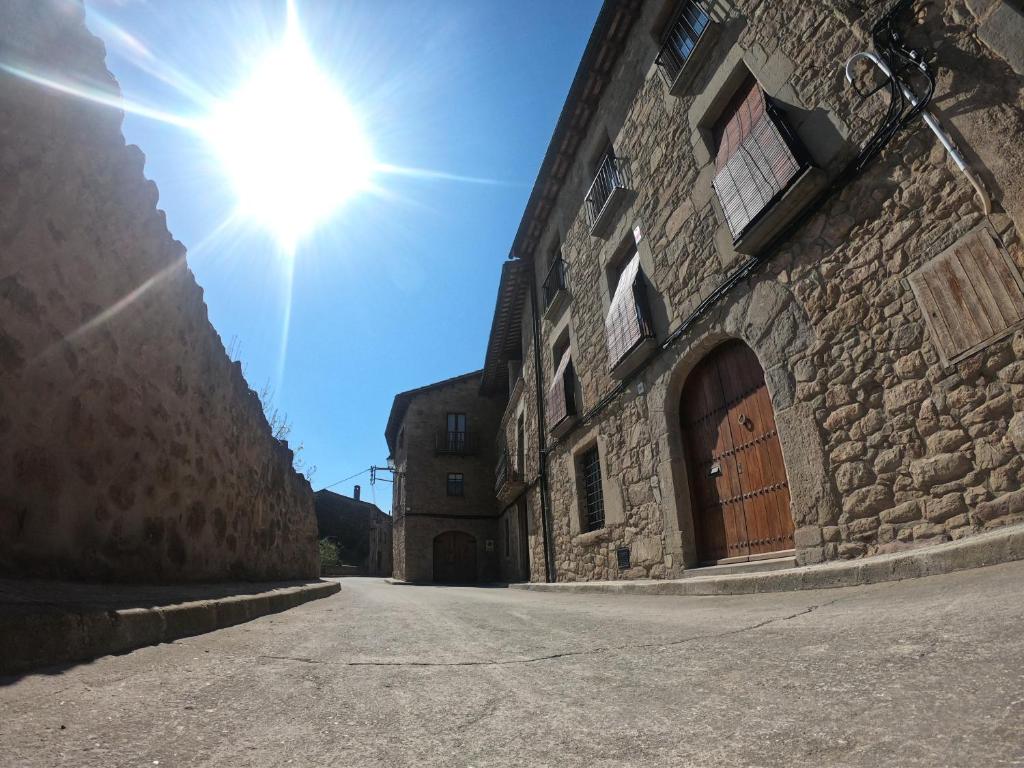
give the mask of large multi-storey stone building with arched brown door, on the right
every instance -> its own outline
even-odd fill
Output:
[[[480,377],[535,581],[1024,518],[1024,19],[887,8],[604,4]],[[878,67],[847,83],[863,50],[931,99],[974,183]]]

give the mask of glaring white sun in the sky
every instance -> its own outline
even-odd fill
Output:
[[[344,94],[316,66],[292,3],[281,45],[204,124],[241,213],[287,251],[369,186],[370,143]]]

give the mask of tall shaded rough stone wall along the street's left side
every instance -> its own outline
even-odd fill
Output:
[[[76,3],[0,4],[0,51],[117,95]],[[313,578],[309,484],[207,319],[121,121],[0,74],[0,570]]]

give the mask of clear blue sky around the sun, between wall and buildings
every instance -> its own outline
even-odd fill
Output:
[[[292,264],[195,133],[128,114],[160,207],[250,385],[269,382],[315,465],[313,487],[387,456],[398,391],[482,365],[502,261],[600,0],[297,0],[303,36],[378,163],[484,181],[378,174]],[[285,0],[86,0],[126,101],[195,117],[284,34]],[[329,152],[344,152],[344,146]],[[258,162],[258,160],[257,160]],[[289,295],[291,296],[289,311]],[[286,334],[287,329],[287,334]],[[390,504],[367,476],[335,487]]]

